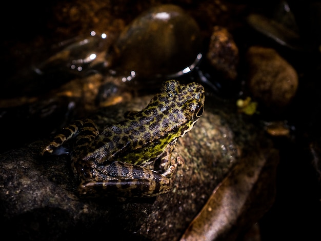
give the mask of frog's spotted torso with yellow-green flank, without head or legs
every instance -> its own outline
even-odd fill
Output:
[[[174,117],[159,113],[158,106],[147,107],[125,121],[107,127],[92,145],[92,157],[99,163],[121,161],[133,164],[148,162],[163,152],[169,133],[177,126]],[[98,158],[97,158],[98,156]]]

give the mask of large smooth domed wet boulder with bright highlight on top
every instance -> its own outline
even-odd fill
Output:
[[[107,59],[110,56],[116,72],[130,81],[183,70],[199,50],[200,31],[194,19],[178,6],[160,5],[143,12],[122,31],[115,53],[108,53]]]

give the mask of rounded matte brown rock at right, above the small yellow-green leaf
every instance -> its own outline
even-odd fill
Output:
[[[295,69],[271,48],[250,47],[247,62],[254,98],[272,111],[288,106],[298,87]]]

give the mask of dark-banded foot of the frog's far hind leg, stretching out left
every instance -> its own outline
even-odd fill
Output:
[[[61,132],[53,138],[52,142],[42,150],[41,155],[52,154],[56,148],[62,146],[67,140],[77,135],[78,130],[81,129],[83,125],[83,121],[75,121],[73,124],[63,128]]]

